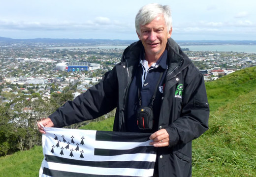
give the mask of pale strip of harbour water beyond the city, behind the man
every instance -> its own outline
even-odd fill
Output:
[[[76,47],[48,47],[48,49],[125,49],[128,45],[95,45]],[[180,46],[189,48],[190,51],[213,51],[213,52],[244,52],[256,54],[256,45],[189,45]]]

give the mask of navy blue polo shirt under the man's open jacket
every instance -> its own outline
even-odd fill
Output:
[[[140,64],[135,68],[134,77],[131,81],[130,87],[128,89],[128,102],[127,102],[127,111],[126,111],[126,128],[128,132],[155,132],[158,130],[158,121],[160,115],[160,107],[161,107],[161,97],[164,89],[164,78],[167,71],[167,50],[163,52],[160,59],[150,68],[145,69],[143,66],[143,62],[145,65],[145,54],[144,49],[140,54]],[[146,65],[147,67],[147,65]],[[147,70],[147,71],[146,71]],[[156,86],[160,74],[163,73],[159,86]],[[151,131],[140,130],[137,125],[137,109],[139,108],[139,96],[138,90],[140,87],[140,95],[141,95],[141,106],[150,106],[152,101],[152,96],[157,87],[156,99],[153,103],[153,113],[154,113],[154,121],[153,121],[153,129]]]

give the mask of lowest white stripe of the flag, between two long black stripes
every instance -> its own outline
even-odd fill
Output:
[[[131,177],[151,177],[154,169],[131,169],[131,168],[99,168],[99,167],[88,167],[88,166],[77,166],[77,165],[66,165],[59,163],[48,162],[48,165],[52,170],[73,172],[73,173],[84,173],[94,175],[121,175]]]

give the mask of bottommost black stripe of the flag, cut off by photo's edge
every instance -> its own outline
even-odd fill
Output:
[[[73,173],[73,172],[64,172],[58,170],[50,170],[48,168],[43,168],[43,174],[51,177],[130,177],[130,176],[119,176],[119,175],[92,175],[92,174],[83,174],[83,173]]]

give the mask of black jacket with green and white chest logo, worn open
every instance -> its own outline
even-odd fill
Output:
[[[126,131],[127,93],[134,66],[139,63],[141,41],[131,44],[122,60],[107,72],[101,82],[68,101],[49,118],[55,127],[100,117],[117,108],[113,131]],[[208,129],[209,106],[202,74],[168,39],[168,70],[165,78],[159,129],[169,134],[169,147],[158,148],[160,177],[192,175],[192,140]]]

